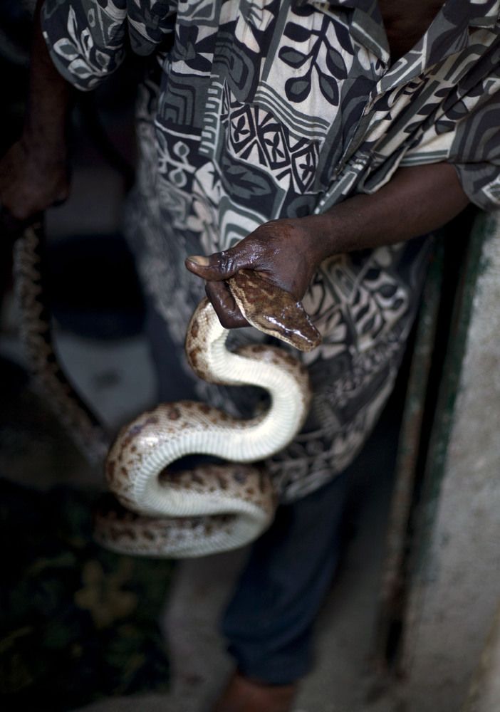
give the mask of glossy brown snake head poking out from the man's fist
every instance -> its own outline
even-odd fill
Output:
[[[241,313],[259,331],[299,351],[312,351],[321,343],[321,334],[301,302],[269,279],[241,270],[227,282]]]

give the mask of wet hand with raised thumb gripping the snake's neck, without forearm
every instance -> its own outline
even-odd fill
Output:
[[[313,217],[273,220],[229,250],[187,258],[189,271],[207,281],[207,296],[222,326],[248,326],[224,282],[241,269],[255,270],[296,300],[303,298],[321,261],[313,221]]]

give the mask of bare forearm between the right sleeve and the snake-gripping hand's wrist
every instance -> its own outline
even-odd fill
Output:
[[[468,202],[454,167],[436,163],[402,168],[376,193],[357,195],[304,220],[320,262],[424,235],[446,224]]]

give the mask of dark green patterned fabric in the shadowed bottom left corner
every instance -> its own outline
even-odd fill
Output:
[[[172,565],[93,543],[93,495],[0,480],[1,708],[71,710],[167,689],[157,619]]]

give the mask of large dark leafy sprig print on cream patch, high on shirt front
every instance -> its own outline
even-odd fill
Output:
[[[300,103],[311,93],[313,81],[325,99],[333,106],[339,103],[337,80],[347,77],[343,56],[328,40],[328,18],[323,19],[321,28],[309,29],[295,22],[288,22],[284,36],[292,41],[278,53],[279,58],[296,70],[295,75],[286,80],[286,98]],[[298,73],[297,70],[303,70]]]

